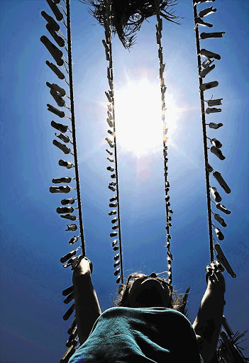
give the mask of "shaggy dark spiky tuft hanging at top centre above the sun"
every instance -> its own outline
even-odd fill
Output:
[[[105,0],[82,0],[90,7],[90,13],[104,26],[106,21]],[[174,6],[176,0],[158,1],[160,16],[167,21],[177,23]],[[111,1],[111,30],[118,34],[124,48],[129,49],[135,44],[135,35],[143,21],[155,15],[155,0],[112,0]]]

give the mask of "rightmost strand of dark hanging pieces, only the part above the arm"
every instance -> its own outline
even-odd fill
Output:
[[[223,156],[221,152],[222,144],[219,140],[216,138],[209,138],[206,135],[206,126],[209,125],[209,128],[211,129],[218,129],[223,124],[222,123],[206,123],[206,115],[209,115],[211,113],[220,113],[221,108],[216,108],[213,106],[219,106],[221,105],[222,99],[213,99],[213,96],[211,96],[211,99],[204,100],[204,91],[209,90],[211,88],[214,88],[218,86],[217,81],[207,82],[203,83],[203,79],[206,77],[209,72],[214,69],[215,65],[213,64],[214,59],[220,60],[221,56],[217,53],[211,52],[206,49],[200,48],[200,39],[208,39],[208,38],[223,38],[223,34],[225,32],[218,32],[218,33],[201,33],[199,37],[199,26],[208,26],[211,28],[213,25],[211,23],[206,23],[203,21],[204,16],[208,16],[211,13],[216,12],[216,9],[213,9],[213,6],[204,9],[199,12],[197,15],[197,4],[205,3],[208,0],[194,0],[193,6],[194,6],[194,31],[196,35],[196,43],[197,43],[197,62],[198,62],[198,70],[199,70],[199,94],[201,99],[201,121],[202,121],[202,131],[203,131],[203,143],[204,143],[204,161],[205,161],[205,173],[206,173],[206,201],[207,201],[207,209],[208,209],[208,220],[209,220],[209,247],[210,247],[210,259],[211,261],[214,260],[214,250],[217,252],[217,259],[221,264],[224,265],[226,270],[229,274],[231,274],[232,277],[236,277],[236,274],[232,272],[230,264],[227,264],[227,260],[225,262],[225,258],[223,255],[223,252],[221,250],[220,245],[217,244],[214,245],[214,239],[213,236],[213,227],[214,227],[214,233],[216,234],[218,240],[223,240],[224,235],[221,232],[220,228],[216,226],[216,222],[218,222],[222,227],[226,227],[226,222],[223,220],[223,218],[218,214],[214,213],[211,210],[211,202],[216,205],[216,208],[219,211],[222,211],[226,215],[230,214],[231,211],[228,211],[228,209],[221,204],[221,196],[218,194],[218,191],[215,186],[210,185],[209,180],[209,174],[213,174],[214,178],[218,181],[218,184],[223,188],[224,191],[226,191],[227,194],[231,193],[231,189],[226,184],[226,181],[224,181],[223,177],[221,176],[220,172],[217,172],[214,167],[211,167],[209,164],[209,155],[208,150],[212,152],[218,159],[225,160],[226,157]],[[214,1],[214,0],[213,0]],[[205,57],[204,62],[201,63],[201,56]],[[207,108],[205,109],[205,103],[207,104]],[[209,116],[207,116],[209,117]],[[208,141],[209,140],[209,141]],[[208,147],[208,143],[210,142],[211,146]],[[213,199],[211,199],[211,196]],[[214,219],[216,222],[213,223],[212,216],[214,216]]]

